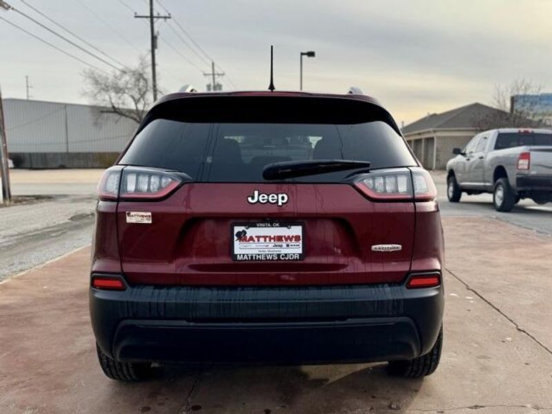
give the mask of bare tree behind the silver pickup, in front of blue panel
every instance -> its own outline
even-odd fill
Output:
[[[542,85],[526,79],[516,79],[507,86],[496,85],[491,105],[494,112],[480,117],[476,126],[481,130],[544,126]]]

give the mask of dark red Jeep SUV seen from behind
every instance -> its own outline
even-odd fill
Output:
[[[436,195],[370,97],[167,95],[99,184],[90,314],[103,372],[389,362],[433,373]]]

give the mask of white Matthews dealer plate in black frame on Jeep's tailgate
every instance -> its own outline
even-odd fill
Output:
[[[303,237],[302,223],[235,223],[232,259],[240,262],[302,260]]]

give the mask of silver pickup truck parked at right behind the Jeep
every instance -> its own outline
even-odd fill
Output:
[[[552,130],[504,128],[475,135],[446,163],[449,201],[462,193],[493,193],[498,211],[520,199],[552,201]]]

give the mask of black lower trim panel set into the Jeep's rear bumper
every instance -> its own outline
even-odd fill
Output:
[[[114,344],[121,361],[319,364],[420,355],[417,330],[405,317],[305,324],[127,320],[117,329]]]

